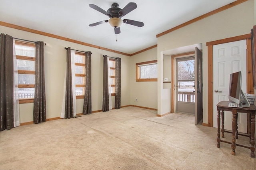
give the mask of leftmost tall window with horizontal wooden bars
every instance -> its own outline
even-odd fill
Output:
[[[35,43],[15,40],[19,103],[33,103],[35,93]]]

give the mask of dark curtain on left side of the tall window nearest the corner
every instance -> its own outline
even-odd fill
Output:
[[[108,56],[104,55],[103,61],[103,100],[102,111],[109,111],[109,94],[108,94]]]

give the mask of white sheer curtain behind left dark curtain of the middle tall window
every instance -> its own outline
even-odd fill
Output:
[[[73,93],[73,111],[74,117],[76,116],[76,73],[75,73],[75,50],[70,50],[71,52],[71,72],[72,72],[72,93]],[[62,110],[60,114],[60,118],[65,118],[65,96],[66,96],[66,72],[65,71],[65,79],[64,79],[64,93],[63,93],[63,101],[62,101]]]

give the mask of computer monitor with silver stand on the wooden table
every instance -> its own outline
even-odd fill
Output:
[[[230,82],[229,82],[229,94],[228,99],[237,104],[241,103],[243,107],[250,107],[250,102],[244,95],[242,89],[242,76],[241,71],[230,74]]]

